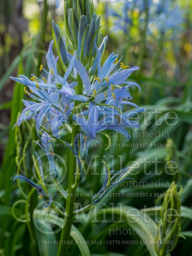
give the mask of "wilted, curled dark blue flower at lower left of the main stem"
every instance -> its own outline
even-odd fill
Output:
[[[13,179],[13,181],[15,181],[16,179],[20,179],[20,180],[25,180],[26,182],[28,182],[31,186],[33,186],[37,192],[39,193],[39,198],[40,199],[44,199],[45,202],[47,202],[47,200],[45,199],[45,197],[49,197],[49,202],[48,204],[44,204],[43,207],[49,207],[52,203],[52,198],[51,196],[47,195],[43,188],[41,188],[39,185],[37,185],[36,183],[34,183],[33,181],[29,180],[26,175],[25,175],[25,171],[23,171],[23,176],[21,175],[17,175],[15,177],[12,177],[11,179]]]

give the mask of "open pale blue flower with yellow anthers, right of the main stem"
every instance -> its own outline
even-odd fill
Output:
[[[68,58],[72,60],[73,56],[68,53]],[[95,103],[108,99],[115,100],[116,96],[131,99],[129,92],[120,90],[122,88],[120,85],[126,84],[130,87],[131,84],[134,84],[140,89],[138,84],[126,81],[132,72],[138,70],[139,67],[129,68],[129,66],[125,66],[124,63],[121,62],[120,68],[113,72],[120,62],[120,60],[118,60],[118,55],[115,55],[113,52],[105,60],[102,67],[100,62],[101,55],[100,51],[97,49],[97,68],[95,71],[95,73],[97,72],[97,75],[89,78],[82,63],[77,59],[74,61],[74,68],[81,76],[84,84],[84,95],[78,95],[78,99],[84,102],[92,101]],[[128,87],[125,88],[128,89]]]

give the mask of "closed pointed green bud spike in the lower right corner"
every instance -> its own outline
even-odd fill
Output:
[[[180,230],[181,230],[181,213],[180,213],[180,196],[182,188],[177,192],[177,186],[173,181],[166,191],[164,202],[162,204],[161,218],[159,224],[161,234],[156,237],[156,252],[164,256],[174,250]]]

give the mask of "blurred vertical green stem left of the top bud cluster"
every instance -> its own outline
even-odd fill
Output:
[[[44,0],[44,2],[43,2],[43,17],[42,17],[42,23],[41,23],[41,36],[40,36],[40,42],[39,42],[39,53],[38,53],[38,62],[37,62],[37,70],[36,70],[37,77],[39,77],[39,74],[40,74],[39,67],[42,64],[43,53],[41,51],[43,50],[44,42],[45,42],[47,13],[48,13],[47,0]]]

